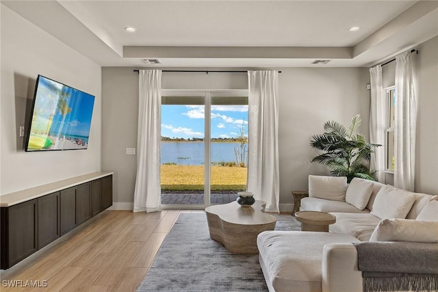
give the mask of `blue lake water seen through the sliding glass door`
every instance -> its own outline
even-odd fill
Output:
[[[240,143],[212,142],[210,146],[211,162],[235,161],[234,148]],[[203,165],[204,142],[162,142],[161,163],[179,165]]]

